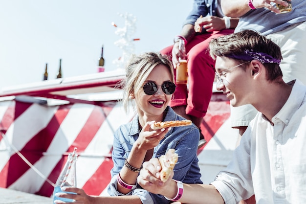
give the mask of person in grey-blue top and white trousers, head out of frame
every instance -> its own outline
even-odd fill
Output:
[[[287,6],[288,2],[292,10],[281,13],[276,4]],[[284,82],[299,79],[306,85],[306,0],[221,0],[221,7],[225,15],[240,18],[235,32],[256,30],[281,47]],[[242,136],[256,114],[250,104],[231,106],[232,128]]]

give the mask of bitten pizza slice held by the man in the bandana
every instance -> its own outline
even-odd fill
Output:
[[[161,164],[160,180],[165,182],[168,180],[170,173],[173,171],[177,162],[178,155],[175,153],[175,149],[169,149],[165,155],[159,157]]]

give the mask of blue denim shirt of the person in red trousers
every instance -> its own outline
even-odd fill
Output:
[[[193,8],[187,16],[185,24],[195,25],[197,19],[202,15],[205,16],[217,16],[218,0],[195,0]],[[205,30],[205,29],[203,29]]]

